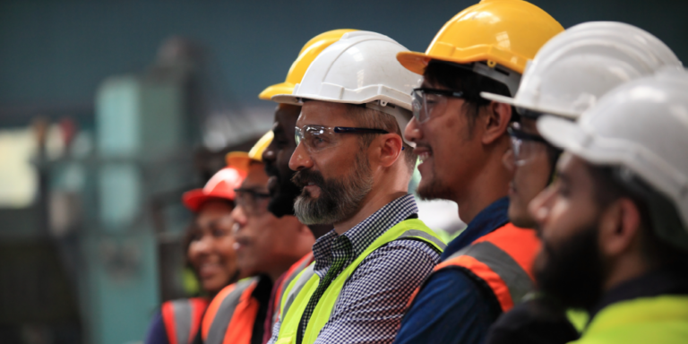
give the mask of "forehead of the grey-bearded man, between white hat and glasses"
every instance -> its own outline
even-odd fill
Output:
[[[306,101],[301,107],[301,115],[298,116],[296,126],[351,126],[354,121],[351,116],[348,116],[350,110],[351,107],[347,104],[317,100]]]

